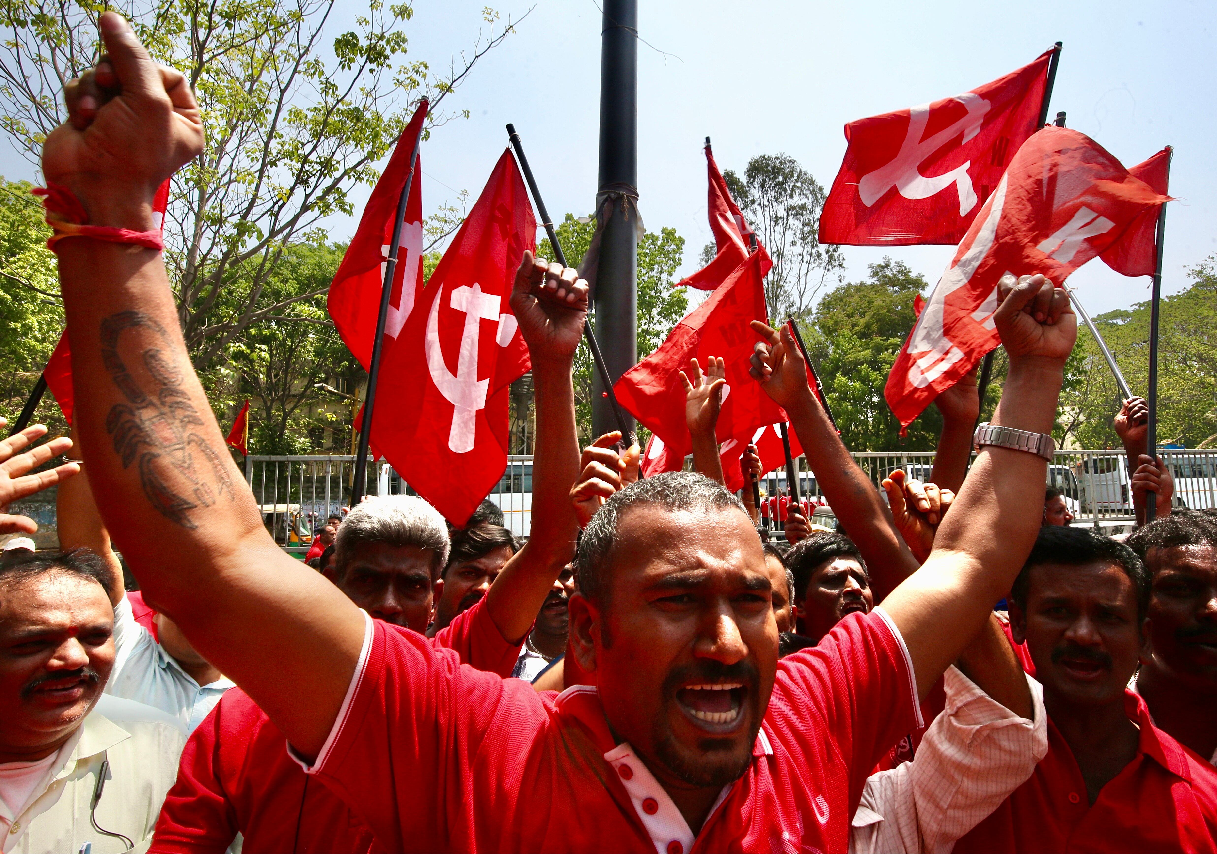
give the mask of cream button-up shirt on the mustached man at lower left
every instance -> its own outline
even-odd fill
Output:
[[[175,718],[147,706],[102,695],[55,753],[26,807],[13,814],[0,800],[4,854],[146,852],[164,796],[178,777],[186,734]],[[108,762],[101,798],[91,809],[97,777]],[[97,826],[128,837],[101,833]]]

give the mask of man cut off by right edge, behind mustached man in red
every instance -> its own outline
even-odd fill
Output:
[[[1134,690],[1154,723],[1217,765],[1217,516],[1176,510],[1128,538],[1152,579]]]

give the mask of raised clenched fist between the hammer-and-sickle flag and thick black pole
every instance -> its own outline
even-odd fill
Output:
[[[572,266],[525,251],[511,290],[511,311],[533,361],[574,359],[588,316],[588,283]]]

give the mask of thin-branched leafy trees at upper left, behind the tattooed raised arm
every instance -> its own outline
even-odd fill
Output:
[[[349,404],[314,383],[326,380],[350,394],[363,371],[325,314],[342,247],[318,229],[325,217],[354,213],[349,193],[376,181],[375,164],[421,96],[431,99],[424,139],[467,118],[467,111],[445,112],[442,101],[514,26],[483,10],[488,36],[479,32],[472,50],[437,73],[406,56],[410,2],[368,0],[344,33],[332,32],[335,7],[335,0],[0,0],[7,33],[0,127],[32,163],[66,118],[63,84],[99,57],[96,18],[106,9],[120,11],[152,56],[195,90],[206,147],[173,179],[166,266],[220,422],[253,398],[254,453],[347,450]],[[63,325],[40,209],[27,204],[34,212],[27,215],[9,198],[23,198],[26,189],[0,200],[0,405],[10,411]],[[460,193],[428,217],[427,276],[465,203]]]

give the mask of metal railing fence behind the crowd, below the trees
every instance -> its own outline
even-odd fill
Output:
[[[1174,477],[1174,504],[1180,507],[1217,507],[1217,450],[1162,450]],[[912,477],[930,479],[932,451],[858,453],[854,461],[877,487],[901,468]],[[975,457],[974,457],[975,459]],[[796,461],[800,495],[817,504],[824,494],[807,460]],[[262,507],[263,519],[275,540],[302,547],[331,513],[350,505],[353,456],[251,456],[246,481]],[[1116,450],[1058,451],[1048,470],[1048,482],[1065,495],[1073,524],[1089,524],[1116,533],[1133,523],[1131,471],[1127,457]],[[762,484],[767,495],[786,488],[786,472],[770,472]],[[409,484],[386,462],[369,459],[365,495],[414,494]],[[487,498],[504,515],[517,536],[532,527],[532,456],[509,456],[503,477]]]

